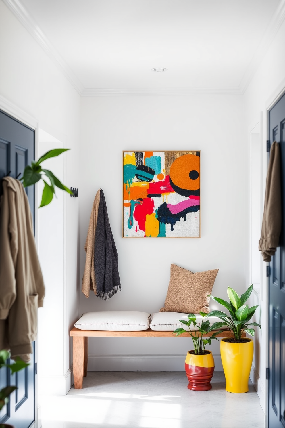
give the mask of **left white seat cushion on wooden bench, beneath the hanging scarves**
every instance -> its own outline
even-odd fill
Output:
[[[74,324],[80,330],[141,331],[147,330],[150,314],[138,311],[86,312]]]

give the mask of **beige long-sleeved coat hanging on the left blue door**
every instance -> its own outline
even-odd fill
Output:
[[[5,177],[0,202],[0,349],[29,360],[43,299],[28,197],[20,181]]]

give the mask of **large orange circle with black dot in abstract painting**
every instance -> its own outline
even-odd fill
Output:
[[[175,159],[169,170],[171,181],[181,189],[197,190],[200,188],[200,157],[182,155]],[[197,176],[198,175],[198,176]],[[197,177],[194,180],[190,177]]]

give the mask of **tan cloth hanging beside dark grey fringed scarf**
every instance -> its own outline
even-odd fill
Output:
[[[96,294],[96,278],[95,278],[95,269],[94,269],[94,245],[95,245],[95,235],[96,235],[96,226],[97,226],[97,217],[98,217],[98,208],[100,203],[100,189],[95,195],[93,202],[91,216],[89,221],[88,233],[85,242],[85,252],[86,252],[86,261],[85,269],[82,278],[82,293],[86,297],[89,297],[90,290],[93,290]]]

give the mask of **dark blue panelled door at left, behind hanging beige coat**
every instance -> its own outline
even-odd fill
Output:
[[[35,160],[35,131],[0,111],[0,179],[9,172],[14,178],[22,175],[24,167],[32,160]],[[26,192],[34,219],[34,186]],[[35,343],[33,345],[35,350]],[[6,385],[16,385],[18,389],[1,410],[0,423],[28,428],[35,421],[35,352],[30,365],[21,372],[11,376],[9,370],[0,370],[0,389]]]

